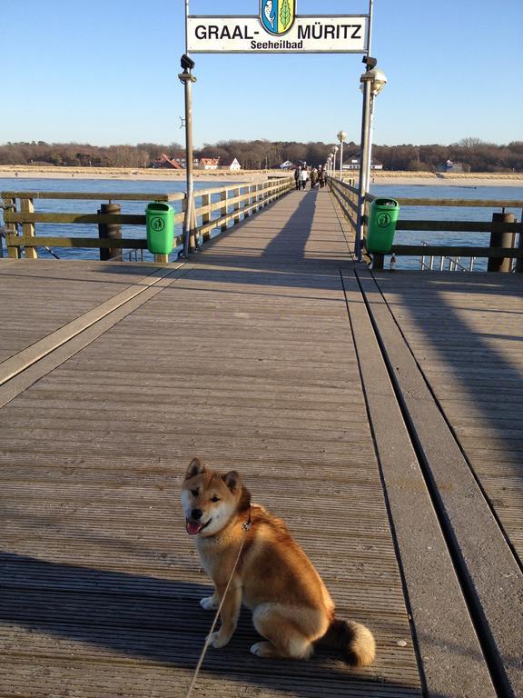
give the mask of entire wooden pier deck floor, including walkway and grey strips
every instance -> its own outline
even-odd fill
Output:
[[[261,660],[192,695],[523,694],[523,274],[370,272],[326,190],[173,264],[0,260],[1,698],[178,698],[212,614],[193,455],[286,519],[364,671]]]

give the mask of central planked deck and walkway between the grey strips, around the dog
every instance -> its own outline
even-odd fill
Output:
[[[380,646],[364,672],[322,654],[264,663],[246,616],[196,695],[421,694],[348,259],[329,194],[290,194],[5,404],[0,696],[182,694],[210,623],[178,500],[195,453],[244,474]]]

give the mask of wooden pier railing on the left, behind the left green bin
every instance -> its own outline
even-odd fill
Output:
[[[212,231],[225,231],[229,225],[238,224],[242,219],[256,213],[271,202],[287,194],[294,186],[291,177],[268,180],[267,182],[246,182],[228,186],[199,189],[194,191],[197,229],[195,234],[205,242],[212,237]],[[98,248],[100,250],[145,250],[147,239],[143,237],[80,237],[76,235],[42,235],[40,226],[53,224],[96,224],[99,226],[143,225],[143,214],[64,212],[50,213],[35,211],[35,200],[81,200],[96,202],[148,202],[173,203],[175,207],[174,225],[183,223],[186,207],[186,194],[125,194],[103,192],[1,192],[4,209],[5,244],[7,254],[14,259],[25,254],[35,258],[37,248]],[[36,228],[38,226],[38,230]],[[176,230],[176,228],[175,228]],[[100,233],[101,234],[101,231]],[[183,245],[183,234],[175,234],[175,250]],[[168,262],[169,255],[156,254],[156,262]]]

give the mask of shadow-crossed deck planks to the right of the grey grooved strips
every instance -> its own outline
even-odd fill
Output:
[[[523,278],[402,276],[380,275],[380,288],[521,562],[523,509],[493,482],[508,471],[523,496]]]

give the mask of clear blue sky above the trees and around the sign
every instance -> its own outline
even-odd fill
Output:
[[[191,0],[257,15],[258,0]],[[374,141],[523,140],[523,1],[375,0],[372,54],[389,78]],[[183,143],[184,0],[5,0],[0,143]],[[298,15],[366,0],[297,0]],[[361,55],[201,55],[194,142],[360,139]]]

